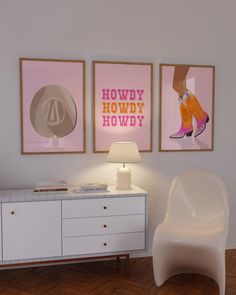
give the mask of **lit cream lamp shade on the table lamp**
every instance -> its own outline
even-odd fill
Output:
[[[113,142],[111,144],[107,162],[135,163],[140,161],[138,146],[135,142]]]

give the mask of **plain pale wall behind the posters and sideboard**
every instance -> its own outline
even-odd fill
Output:
[[[117,166],[92,153],[91,61],[153,62],[153,152],[131,165],[133,182],[150,193],[149,239],[173,177],[203,168],[228,187],[228,247],[236,247],[235,10],[234,0],[0,0],[0,188],[47,178],[113,183]],[[20,154],[19,57],[86,60],[86,154]],[[213,152],[158,152],[159,63],[216,66]]]

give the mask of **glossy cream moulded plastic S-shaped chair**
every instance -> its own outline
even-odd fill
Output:
[[[213,278],[224,295],[228,220],[227,190],[219,176],[206,171],[178,175],[154,234],[156,285],[179,273],[201,273]]]

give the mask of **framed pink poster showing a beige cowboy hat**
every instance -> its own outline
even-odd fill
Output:
[[[85,62],[20,58],[21,153],[85,152]]]

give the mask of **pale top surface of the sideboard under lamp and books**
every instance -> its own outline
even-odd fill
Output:
[[[143,196],[147,192],[138,186],[132,185],[131,190],[117,190],[115,186],[109,186],[108,191],[104,192],[75,192],[76,187],[70,188],[68,192],[44,192],[35,193],[33,189],[10,189],[0,190],[0,203],[9,202],[32,202],[32,201],[55,201],[55,200],[76,200],[76,199],[94,199],[110,197]]]

